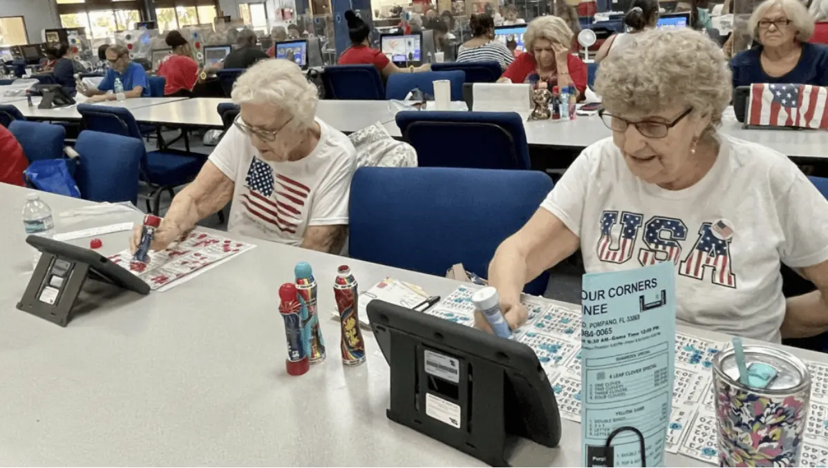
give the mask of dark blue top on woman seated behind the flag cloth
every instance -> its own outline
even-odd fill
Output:
[[[828,48],[824,45],[802,44],[802,55],[793,69],[780,77],[768,76],[762,69],[762,46],[739,52],[730,60],[733,69],[733,87],[754,83],[795,83],[828,86]]]

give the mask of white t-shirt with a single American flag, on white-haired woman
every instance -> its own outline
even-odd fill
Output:
[[[230,127],[209,156],[235,182],[229,232],[299,246],[308,226],[348,224],[356,150],[342,132],[315,120],[319,143],[289,162],[262,160],[250,138]]]

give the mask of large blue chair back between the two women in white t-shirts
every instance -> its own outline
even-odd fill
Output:
[[[351,182],[349,254],[439,276],[462,262],[485,277],[551,189],[540,171],[363,167]],[[544,272],[523,290],[543,294],[548,281]]]

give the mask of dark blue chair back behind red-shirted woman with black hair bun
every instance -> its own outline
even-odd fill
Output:
[[[327,99],[385,99],[383,78],[372,64],[325,67],[322,83]]]

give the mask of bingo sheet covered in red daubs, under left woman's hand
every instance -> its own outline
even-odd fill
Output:
[[[132,261],[132,254],[128,250],[110,256],[109,260],[143,279],[155,291],[183,284],[222,261],[229,260],[233,255],[249,251],[253,247],[255,245],[248,242],[193,231],[165,251],[151,251],[148,264]]]

